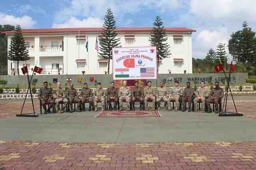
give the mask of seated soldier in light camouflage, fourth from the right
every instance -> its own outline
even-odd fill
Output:
[[[170,89],[170,92],[169,92],[169,104],[170,106],[168,106],[168,110],[171,109],[171,101],[175,101],[175,111],[178,111],[179,109],[179,100],[180,100],[180,96],[182,96],[182,88],[180,88],[179,86],[179,82],[178,81],[175,81],[174,82],[174,87],[172,89]]]

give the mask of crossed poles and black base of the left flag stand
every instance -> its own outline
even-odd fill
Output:
[[[28,89],[27,89],[27,92],[26,92],[26,96],[25,96],[20,114],[17,114],[16,117],[38,117],[38,113],[35,112],[34,101],[33,101],[32,90],[31,90],[31,81],[32,81],[32,78],[33,78],[33,75],[34,75],[34,70],[32,72],[32,76],[31,76],[30,79],[29,79],[29,76],[28,76],[28,71],[26,73],[27,73],[27,79],[28,79]],[[25,102],[26,102],[26,98],[28,96],[28,90],[30,91],[30,97],[31,97],[31,101],[32,101],[33,112],[28,112],[28,113],[23,113],[22,114],[22,111],[23,111],[23,108],[24,108],[24,105],[25,105]]]

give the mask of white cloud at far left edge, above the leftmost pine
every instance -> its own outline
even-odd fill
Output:
[[[22,28],[31,28],[36,24],[30,16],[15,17],[12,15],[0,13],[0,24],[20,25]]]

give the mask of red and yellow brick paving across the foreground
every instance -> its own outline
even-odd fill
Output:
[[[0,141],[1,170],[252,170],[256,142]]]

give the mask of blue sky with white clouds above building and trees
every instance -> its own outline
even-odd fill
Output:
[[[192,56],[204,58],[247,21],[256,31],[256,0],[0,0],[0,25],[22,28],[101,27],[108,7],[117,27],[152,27],[160,16],[165,27],[187,27]],[[172,47],[171,47],[172,48]]]

